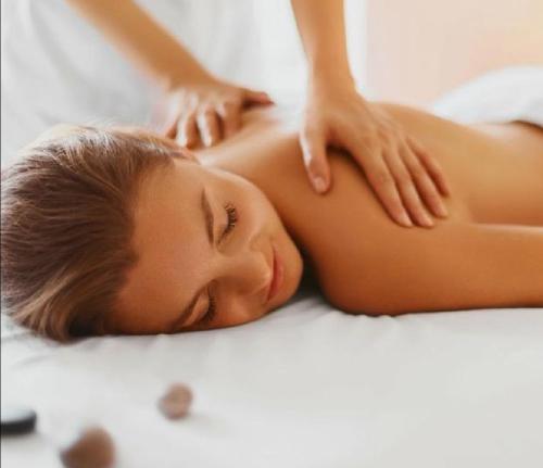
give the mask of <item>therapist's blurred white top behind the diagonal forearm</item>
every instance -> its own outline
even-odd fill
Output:
[[[212,72],[257,81],[252,0],[138,0]],[[144,124],[151,84],[64,0],[2,0],[2,167],[63,122]],[[253,85],[256,86],[256,85]]]

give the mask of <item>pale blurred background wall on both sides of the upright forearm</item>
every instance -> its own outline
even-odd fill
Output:
[[[290,0],[254,5],[263,87],[302,93]],[[426,105],[485,72],[543,65],[543,0],[345,0],[345,16],[351,66],[372,99]]]

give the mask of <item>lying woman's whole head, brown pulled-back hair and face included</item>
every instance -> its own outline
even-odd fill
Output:
[[[72,127],[26,148],[2,173],[1,229],[8,312],[58,340],[249,321],[301,274],[260,190],[141,130]],[[274,248],[285,281],[262,304]],[[213,305],[214,320],[194,325]]]

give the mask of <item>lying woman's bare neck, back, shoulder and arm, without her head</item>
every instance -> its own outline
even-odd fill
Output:
[[[249,115],[237,136],[201,155],[268,195],[340,308],[401,314],[543,305],[543,132],[520,124],[465,127],[382,105],[447,176],[450,216],[434,219],[432,229],[394,224],[362,170],[336,151],[329,152],[332,190],[314,193],[296,119],[279,111]]]

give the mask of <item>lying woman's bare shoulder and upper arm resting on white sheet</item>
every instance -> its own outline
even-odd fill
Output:
[[[543,228],[478,224],[458,200],[433,228],[400,227],[349,160],[331,161],[334,189],[295,219],[334,305],[390,315],[543,305]]]

